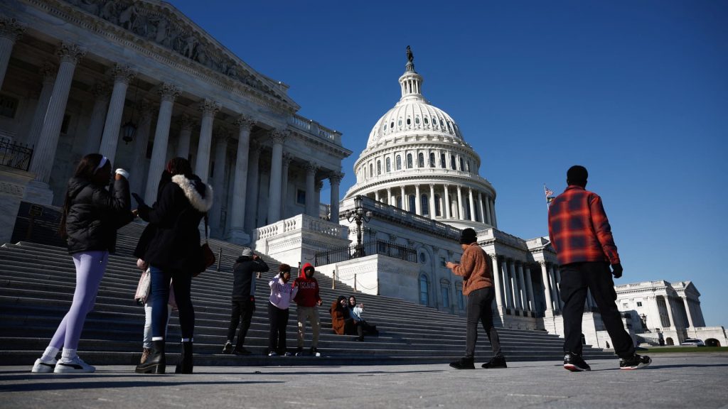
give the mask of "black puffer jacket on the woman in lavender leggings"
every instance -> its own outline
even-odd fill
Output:
[[[111,191],[88,180],[68,180],[68,253],[116,250],[116,230],[132,221],[129,181],[114,180]]]

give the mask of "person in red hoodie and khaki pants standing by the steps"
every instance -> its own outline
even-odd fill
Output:
[[[293,301],[296,301],[296,311],[298,312],[298,348],[296,356],[304,353],[304,335],[306,333],[306,319],[311,324],[313,331],[313,340],[311,342],[311,354],[314,357],[319,356],[317,352],[318,337],[321,330],[321,320],[318,315],[318,306],[321,305],[321,297],[319,295],[318,281],[314,279],[314,266],[311,263],[305,263],[298,278],[293,282],[293,287],[298,287],[298,293]]]

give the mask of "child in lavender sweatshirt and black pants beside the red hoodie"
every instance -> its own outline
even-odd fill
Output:
[[[270,333],[268,335],[268,356],[290,356],[286,348],[285,328],[288,326],[288,307],[290,301],[296,297],[298,287],[288,284],[290,280],[290,266],[281,264],[279,273],[268,283],[271,287],[271,296],[268,303],[268,320]]]

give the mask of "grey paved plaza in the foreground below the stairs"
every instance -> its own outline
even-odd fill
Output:
[[[292,360],[295,358],[291,358]],[[558,362],[505,370],[448,365],[199,367],[140,376],[126,366],[87,375],[0,367],[2,408],[728,408],[728,354],[657,354],[644,370],[617,360],[570,373]]]

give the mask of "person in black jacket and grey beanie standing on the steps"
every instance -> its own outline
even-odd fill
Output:
[[[290,272],[288,264],[281,264],[281,271],[283,266]],[[250,355],[250,351],[243,348],[242,344],[245,344],[250,319],[253,319],[253,312],[256,311],[256,277],[253,273],[265,271],[268,271],[268,264],[259,255],[253,253],[253,249],[249,247],[242,249],[242,254],[232,266],[232,313],[223,354]],[[235,330],[241,319],[240,332],[237,333],[237,343],[233,349],[232,341],[235,340]]]

